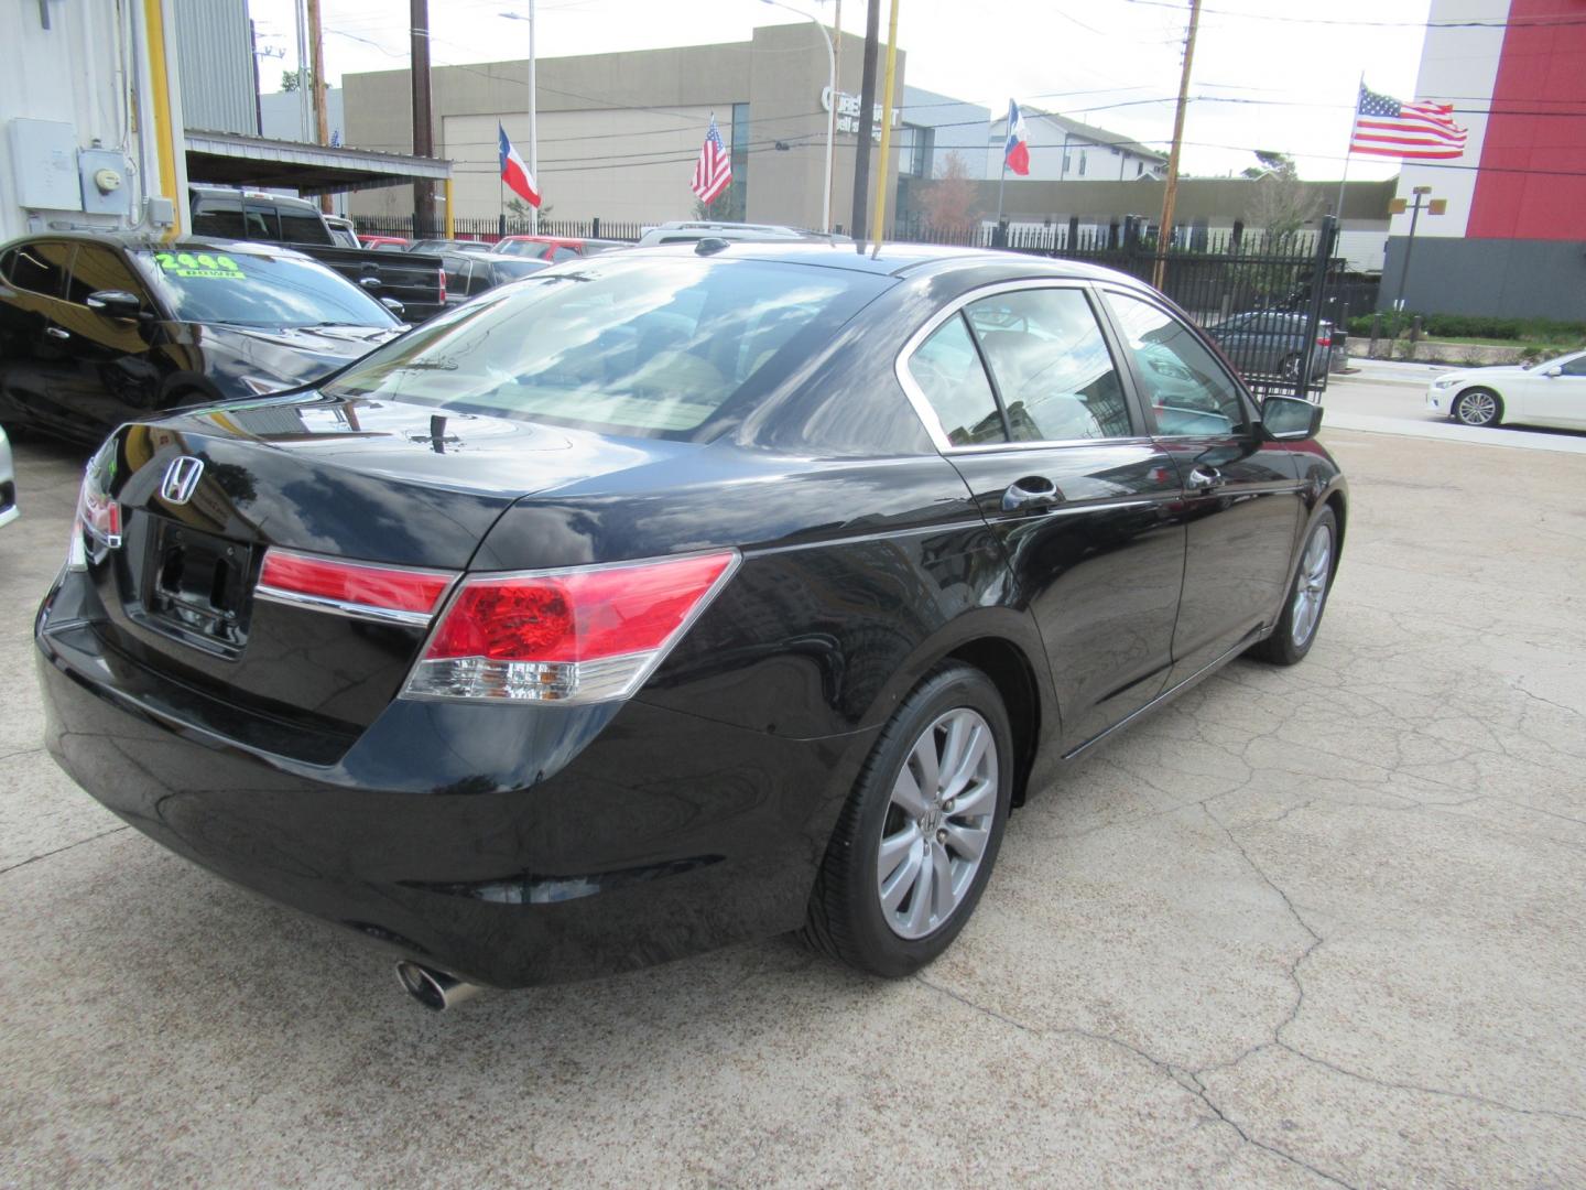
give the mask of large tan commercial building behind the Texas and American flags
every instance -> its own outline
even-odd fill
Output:
[[[864,40],[841,36],[839,130],[833,224],[850,225]],[[885,57],[885,46],[882,48]],[[902,97],[906,56],[898,54]],[[826,41],[814,24],[757,29],[749,41],[623,54],[541,59],[539,187],[550,219],[646,224],[695,214],[688,189],[711,114],[733,154],[739,217],[820,227],[826,149]],[[880,63],[877,75],[880,75]],[[412,151],[406,70],[343,79],[347,143]],[[877,84],[877,92],[880,86]],[[528,159],[528,62],[438,67],[431,71],[435,152],[454,162],[460,219],[493,219],[503,203],[496,122]],[[895,127],[904,132],[896,114]],[[847,109],[847,111],[845,111]],[[879,129],[877,129],[879,135]],[[907,144],[907,136],[898,136]],[[872,149],[872,187],[879,154]],[[890,190],[896,187],[893,154]],[[874,189],[871,190],[874,195]],[[888,203],[888,208],[891,203]],[[352,200],[355,214],[412,213],[404,187]]]

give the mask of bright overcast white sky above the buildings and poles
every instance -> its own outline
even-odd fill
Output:
[[[831,21],[833,0],[788,0]],[[1196,43],[1194,102],[1183,170],[1237,173],[1251,149],[1294,154],[1305,178],[1342,168],[1356,86],[1413,97],[1429,0],[1210,0]],[[265,90],[297,65],[292,0],[249,0]],[[528,56],[528,25],[500,16],[527,0],[431,0],[435,65]],[[1064,11],[1072,11],[1067,16]],[[322,0],[325,73],[392,70],[408,62],[406,0]],[[761,0],[542,0],[541,57],[747,40],[755,25],[798,21]],[[1175,0],[901,0],[898,44],[907,83],[996,113],[1007,100],[1063,111],[1167,149],[1188,6]],[[885,36],[887,3],[882,5]],[[864,0],[847,0],[842,27],[864,33]],[[1354,159],[1350,176],[1388,178],[1394,162]]]

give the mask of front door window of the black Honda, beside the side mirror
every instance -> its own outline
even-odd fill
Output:
[[[1132,294],[1107,290],[1107,305],[1134,352],[1158,433],[1224,436],[1248,428],[1239,386],[1190,327]]]

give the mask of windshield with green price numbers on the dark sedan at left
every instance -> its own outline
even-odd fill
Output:
[[[133,252],[179,322],[238,327],[390,327],[396,319],[346,278],[312,260],[257,252]]]

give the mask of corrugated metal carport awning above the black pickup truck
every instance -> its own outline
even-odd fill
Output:
[[[233,132],[187,132],[187,181],[192,182],[341,194],[450,176],[452,163],[435,157],[271,141]]]

